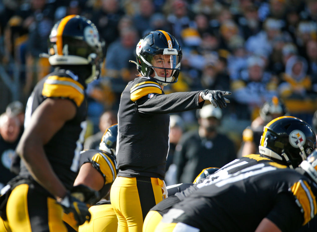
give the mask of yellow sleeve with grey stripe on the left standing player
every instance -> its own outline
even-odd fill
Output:
[[[68,98],[79,107],[85,98],[84,86],[70,77],[50,76],[44,84],[44,97]]]

